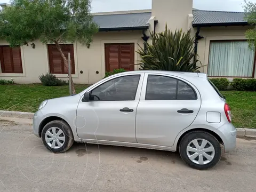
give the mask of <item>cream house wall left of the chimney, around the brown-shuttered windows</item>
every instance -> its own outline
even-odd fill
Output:
[[[99,32],[94,38],[88,49],[79,42],[74,43],[75,72],[72,75],[74,83],[92,84],[105,76],[105,48],[104,43],[134,43],[134,50],[138,51],[138,44],[143,47],[141,39],[142,31],[113,31]],[[49,59],[47,54],[47,45],[39,41],[35,43],[33,49],[29,46],[21,46],[21,59],[23,74],[2,74],[0,71],[0,79],[13,78],[15,83],[40,83],[39,75],[49,71]],[[6,41],[0,41],[0,45],[9,45]],[[134,53],[135,60],[138,59],[138,53]],[[138,69],[135,66],[135,70]],[[0,69],[1,70],[1,69]],[[80,71],[83,71],[81,74]],[[99,71],[99,74],[96,74]],[[67,79],[67,75],[56,74],[57,77]]]

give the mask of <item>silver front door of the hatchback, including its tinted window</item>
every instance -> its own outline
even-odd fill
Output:
[[[135,116],[143,73],[119,75],[89,90],[90,101],[79,101],[76,127],[79,138],[137,143]]]

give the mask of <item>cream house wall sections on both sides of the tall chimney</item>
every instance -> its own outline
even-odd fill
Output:
[[[188,24],[187,24],[188,26]],[[198,56],[202,67],[200,71],[207,73],[209,62],[209,49],[211,40],[236,40],[246,39],[245,31],[249,26],[237,27],[201,27],[200,35],[203,39],[198,42]],[[195,28],[191,30],[194,36]],[[75,72],[74,82],[79,84],[92,84],[103,78],[105,75],[105,43],[134,43],[134,50],[138,51],[138,44],[143,47],[141,39],[142,31],[112,31],[99,32],[93,38],[90,49],[82,46],[80,43],[74,43]],[[47,55],[47,45],[39,41],[33,42],[36,47],[33,49],[31,43],[29,46],[21,46],[21,60],[23,74],[2,74],[0,68],[0,79],[14,78],[15,83],[39,83],[38,76],[49,71],[49,61]],[[0,45],[9,45],[6,41],[0,41]],[[138,53],[134,53],[134,58],[139,58]],[[135,66],[138,70],[139,66]],[[80,71],[83,71],[81,74]],[[96,74],[99,71],[99,74]],[[256,73],[255,73],[256,74]],[[67,79],[67,75],[57,74],[57,77]],[[256,76],[254,76],[256,77]]]

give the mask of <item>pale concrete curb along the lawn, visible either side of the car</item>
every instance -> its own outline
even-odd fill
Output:
[[[0,117],[17,117],[17,118],[33,119],[33,116],[34,116],[34,113],[0,110]],[[237,128],[237,136],[256,138],[256,129]]]

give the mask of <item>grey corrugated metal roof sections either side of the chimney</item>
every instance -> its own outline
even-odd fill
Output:
[[[227,11],[202,11],[193,9],[193,27],[211,26],[245,26],[243,12]],[[100,26],[100,31],[119,30],[143,30],[148,29],[147,23],[151,17],[151,12],[126,13],[126,14],[105,14],[94,15],[94,21]]]

